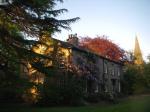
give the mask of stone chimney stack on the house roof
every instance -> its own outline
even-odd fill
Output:
[[[77,37],[77,34],[70,34],[68,36],[67,42],[70,43],[70,44],[72,44],[72,45],[78,46],[79,39]]]

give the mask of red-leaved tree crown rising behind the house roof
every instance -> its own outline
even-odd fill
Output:
[[[124,57],[124,50],[122,50],[111,40],[107,39],[106,36],[97,36],[96,38],[81,38],[80,47],[88,49],[96,54],[107,57],[114,61],[121,61]]]

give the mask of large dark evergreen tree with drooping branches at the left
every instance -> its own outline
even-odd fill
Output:
[[[0,100],[8,95],[10,100],[12,97],[16,100],[32,86],[28,85],[28,79],[19,75],[21,64],[26,66],[28,62],[47,76],[51,76],[54,70],[45,66],[43,61],[54,56],[36,53],[33,46],[46,43],[40,41],[43,35],[51,37],[61,28],[70,29],[69,24],[79,18],[57,19],[59,14],[67,11],[55,10],[57,2],[63,0],[6,1],[0,4]]]

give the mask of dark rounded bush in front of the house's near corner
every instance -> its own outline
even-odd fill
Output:
[[[83,80],[73,73],[46,78],[39,104],[46,106],[80,105],[83,101]]]

